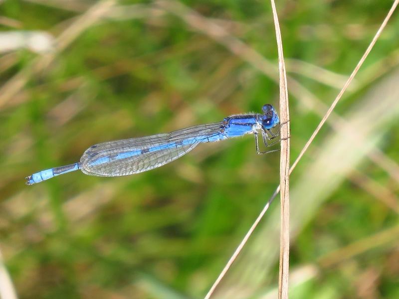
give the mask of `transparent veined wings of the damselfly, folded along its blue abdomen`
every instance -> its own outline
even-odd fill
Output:
[[[200,125],[148,137],[131,138],[94,145],[80,158],[81,170],[99,176],[120,176],[165,165],[202,142],[216,141],[222,123]]]

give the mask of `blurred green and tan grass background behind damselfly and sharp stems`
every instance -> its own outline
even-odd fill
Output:
[[[277,1],[292,160],[391,4]],[[278,185],[278,152],[248,136],[133,176],[24,177],[99,142],[278,107],[270,3],[0,11],[0,291],[8,272],[19,298],[203,298]],[[399,298],[398,28],[397,12],[291,176],[291,298]],[[276,298],[278,230],[276,199],[214,298]]]

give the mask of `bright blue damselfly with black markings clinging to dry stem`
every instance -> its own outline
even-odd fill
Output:
[[[262,111],[263,114],[232,115],[218,123],[194,126],[171,133],[97,144],[83,153],[80,162],[33,173],[26,177],[26,184],[39,183],[78,169],[85,174],[97,176],[140,173],[170,163],[200,143],[216,142],[245,134],[255,136],[258,154],[271,152],[259,150],[258,134],[260,131],[266,147],[271,146],[268,141],[279,135],[271,129],[280,123],[280,119],[272,105],[264,105]]]

